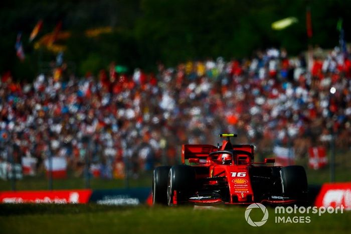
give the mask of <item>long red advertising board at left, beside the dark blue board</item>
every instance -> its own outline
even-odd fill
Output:
[[[0,192],[1,203],[88,203],[91,189]]]

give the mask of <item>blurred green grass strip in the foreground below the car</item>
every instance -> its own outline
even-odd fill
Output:
[[[267,223],[252,227],[245,221],[245,208],[194,210],[192,207],[1,204],[0,233],[302,234],[349,233],[351,229],[351,212],[310,214],[310,223],[275,223],[273,208],[269,208]],[[252,214],[254,221],[262,217],[262,213]]]

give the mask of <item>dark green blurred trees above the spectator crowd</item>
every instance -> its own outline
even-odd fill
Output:
[[[306,8],[311,9],[313,37],[306,35]],[[298,23],[273,31],[274,21],[296,17]],[[331,48],[338,45],[336,23],[343,19],[346,41],[351,32],[349,0],[115,0],[58,1],[13,0],[0,3],[0,74],[11,71],[16,79],[31,80],[41,62],[55,60],[55,53],[34,49],[28,42],[38,20],[41,32],[50,33],[59,21],[65,40],[65,61],[74,72],[96,74],[111,61],[132,68],[156,68],[157,62],[172,66],[188,59],[223,56],[226,59],[250,57],[257,49],[285,47],[290,55],[307,45]],[[112,33],[95,38],[86,29],[109,26]],[[18,32],[26,53],[16,56]],[[34,41],[34,42],[35,42]]]

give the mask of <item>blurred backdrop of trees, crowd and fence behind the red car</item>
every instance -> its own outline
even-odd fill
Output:
[[[0,190],[151,186],[237,133],[351,176],[350,1],[0,3]]]

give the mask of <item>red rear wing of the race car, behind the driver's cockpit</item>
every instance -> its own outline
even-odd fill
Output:
[[[255,149],[253,145],[234,145],[233,150],[236,150],[240,155],[240,151],[247,152],[250,159],[254,159]],[[182,163],[189,158],[199,158],[207,160],[211,152],[218,151],[218,148],[212,145],[183,145],[182,146]],[[246,155],[246,154],[245,154]]]

